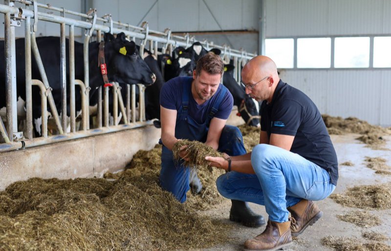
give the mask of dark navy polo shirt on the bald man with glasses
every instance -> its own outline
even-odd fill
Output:
[[[290,151],[326,169],[337,185],[337,154],[318,108],[302,91],[280,80],[272,102],[261,104],[261,131],[269,139],[270,134],[295,136]]]

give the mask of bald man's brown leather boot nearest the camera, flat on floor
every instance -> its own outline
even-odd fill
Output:
[[[265,230],[253,239],[244,243],[246,251],[275,251],[292,245],[290,219],[287,222],[267,221]]]

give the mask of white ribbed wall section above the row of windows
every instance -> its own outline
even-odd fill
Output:
[[[390,0],[266,0],[266,37],[391,33]]]

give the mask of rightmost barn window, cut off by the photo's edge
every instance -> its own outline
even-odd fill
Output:
[[[373,38],[373,67],[391,67],[391,37]]]

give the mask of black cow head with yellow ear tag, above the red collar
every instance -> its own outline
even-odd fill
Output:
[[[109,81],[127,84],[152,85],[156,80],[148,65],[141,59],[136,44],[128,41],[123,32],[113,35],[105,33],[105,57]],[[108,48],[108,49],[106,49]],[[109,54],[109,57],[107,57]]]

